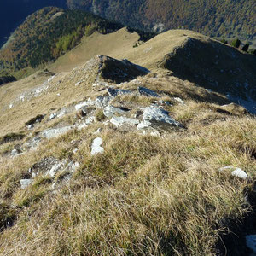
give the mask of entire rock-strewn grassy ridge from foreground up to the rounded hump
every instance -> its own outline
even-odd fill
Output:
[[[137,38],[95,32],[55,73],[0,87],[0,255],[252,253],[255,116],[178,62],[198,46],[223,90],[216,55],[241,68],[252,56],[187,30]],[[112,56],[68,67],[99,40]]]

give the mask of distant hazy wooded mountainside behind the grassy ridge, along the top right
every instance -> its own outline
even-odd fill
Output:
[[[143,29],[186,28],[211,37],[252,41],[256,37],[254,0],[67,0],[67,6]]]

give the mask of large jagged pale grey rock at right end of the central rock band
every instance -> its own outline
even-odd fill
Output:
[[[184,128],[175,119],[169,116],[169,112],[154,106],[144,108],[143,110],[143,120],[148,121],[152,125],[172,125],[179,128]]]

